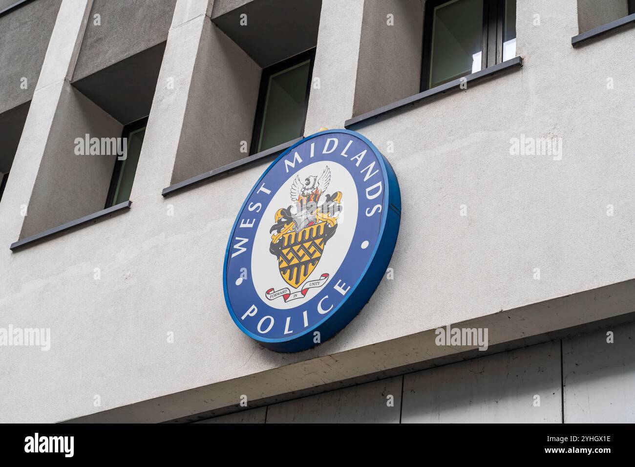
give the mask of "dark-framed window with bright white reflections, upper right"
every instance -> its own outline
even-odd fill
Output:
[[[516,56],[516,0],[429,0],[421,90]]]

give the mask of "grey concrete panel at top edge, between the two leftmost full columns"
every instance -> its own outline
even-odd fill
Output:
[[[95,0],[73,81],[104,69],[168,38],[177,0]],[[95,24],[99,15],[100,24]]]

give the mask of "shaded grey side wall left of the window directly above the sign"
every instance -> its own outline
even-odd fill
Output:
[[[260,73],[241,48],[204,20],[171,183],[248,156],[241,147],[248,151],[251,144]]]

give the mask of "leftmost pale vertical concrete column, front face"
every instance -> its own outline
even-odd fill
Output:
[[[18,239],[46,146],[51,126],[70,76],[84,35],[92,0],[64,0],[58,11],[53,34],[44,57],[42,70],[29,108],[22,138],[18,145],[11,177],[0,204],[0,265],[8,264],[9,245]],[[2,266],[0,266],[2,267]],[[4,271],[0,269],[0,276]]]

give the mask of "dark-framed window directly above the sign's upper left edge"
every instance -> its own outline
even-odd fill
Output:
[[[262,71],[251,154],[302,136],[315,49]]]

